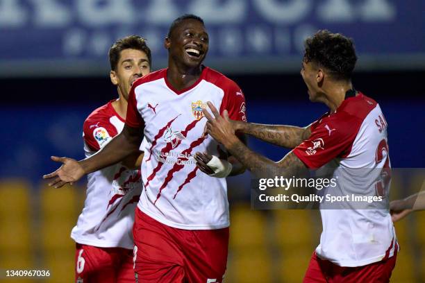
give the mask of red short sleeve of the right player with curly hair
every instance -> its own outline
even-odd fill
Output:
[[[293,152],[308,168],[317,169],[347,153],[357,135],[356,124],[353,119],[322,123],[319,119],[312,124],[310,137]]]

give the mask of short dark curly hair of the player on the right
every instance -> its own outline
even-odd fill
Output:
[[[354,42],[340,33],[317,31],[308,37],[303,60],[326,68],[336,80],[349,80],[357,62]]]

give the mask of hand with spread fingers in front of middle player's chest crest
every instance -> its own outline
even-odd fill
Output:
[[[207,104],[211,112],[213,112],[214,117],[211,116],[206,108],[203,108],[202,112],[206,119],[208,119],[206,123],[206,132],[208,132],[208,134],[219,144],[223,144],[224,146],[234,141],[234,139],[238,139],[238,137],[235,136],[235,129],[233,128],[232,120],[228,117],[227,110],[224,110],[222,117],[213,103],[208,101]]]

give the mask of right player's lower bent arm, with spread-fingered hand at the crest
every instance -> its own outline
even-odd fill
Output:
[[[235,129],[226,110],[222,117],[212,103],[208,102],[208,106],[214,114],[213,117],[206,109],[203,110],[203,114],[208,119],[206,124],[208,134],[220,144],[223,144],[228,152],[254,175],[261,178],[272,178],[276,175],[292,177],[307,169],[306,165],[292,152],[285,155],[279,162],[274,162],[267,157],[254,153],[236,137]]]

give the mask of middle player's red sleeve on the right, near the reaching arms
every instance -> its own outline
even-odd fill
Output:
[[[233,80],[228,80],[224,88],[224,97],[220,107],[220,114],[222,114],[224,110],[227,110],[228,116],[232,120],[247,121],[245,96],[242,89],[240,89]]]

